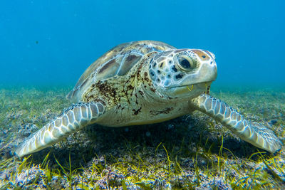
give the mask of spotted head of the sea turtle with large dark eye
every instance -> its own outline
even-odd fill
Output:
[[[168,97],[197,97],[217,78],[214,54],[199,49],[157,53],[149,74],[159,93]]]

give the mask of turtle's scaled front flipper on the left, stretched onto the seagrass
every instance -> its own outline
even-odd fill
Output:
[[[50,147],[52,144],[80,130],[98,120],[105,112],[105,107],[100,102],[80,102],[63,110],[61,115],[48,122],[37,132],[31,134],[17,148],[15,153],[19,157],[38,152]]]

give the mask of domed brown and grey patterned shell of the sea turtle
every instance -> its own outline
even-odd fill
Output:
[[[176,48],[160,41],[133,41],[115,46],[86,69],[76,86],[68,93],[67,98],[73,102],[79,102],[81,95],[95,81],[112,78],[115,75],[119,77],[126,75],[145,54],[172,49]]]

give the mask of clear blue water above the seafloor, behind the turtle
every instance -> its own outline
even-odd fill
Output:
[[[0,84],[74,85],[119,43],[217,58],[217,84],[285,85],[285,1],[1,1]]]

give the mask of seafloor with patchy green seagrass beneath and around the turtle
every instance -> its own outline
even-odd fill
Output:
[[[92,125],[28,159],[15,157],[17,144],[68,107],[71,88],[0,86],[0,189],[285,187],[284,148],[257,149],[200,112],[153,125]],[[211,90],[285,143],[284,86]]]

